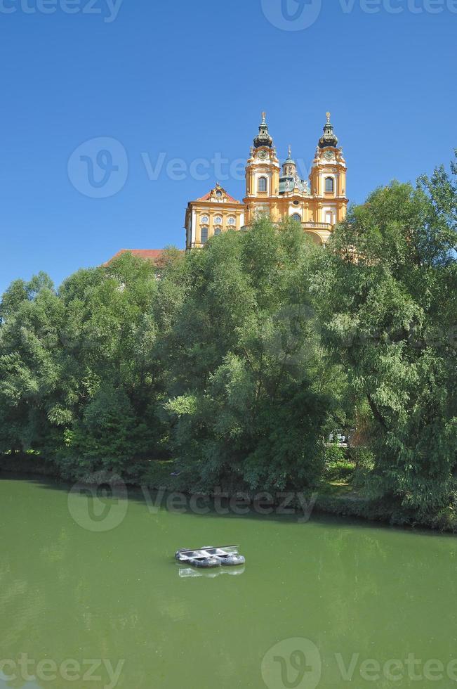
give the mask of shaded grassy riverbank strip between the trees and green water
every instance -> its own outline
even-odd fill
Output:
[[[174,474],[172,469],[172,461],[151,462],[150,469],[144,472],[142,476],[123,477],[123,480],[132,488],[147,487],[147,489],[152,491],[165,490],[185,495],[206,494],[210,498],[215,498],[218,495],[201,491],[200,487],[192,485],[192,479],[189,476],[183,473]],[[45,476],[60,481],[65,480],[65,482],[69,480],[68,477],[63,477],[60,474],[55,464],[33,454],[0,456],[0,478],[8,473]],[[91,476],[89,475],[87,482],[91,482]],[[81,482],[81,479],[76,479],[76,477],[73,480]],[[246,501],[253,504],[258,500],[258,496],[255,494],[249,494],[246,491],[240,493],[239,490],[234,488],[224,487],[223,490],[221,489],[221,492],[228,499],[242,495]],[[452,507],[441,510],[435,515],[418,519],[413,512],[406,513],[404,509],[400,509],[398,504],[394,502],[369,500],[369,498],[353,490],[350,484],[344,482],[323,482],[319,487],[319,491],[310,495],[300,492],[289,492],[287,497],[285,497],[286,494],[284,493],[278,493],[274,496],[272,494],[265,494],[264,491],[259,495],[262,496],[263,506],[274,506],[281,510],[294,508],[297,512],[303,513],[305,506],[305,511],[307,510],[309,515],[315,511],[340,517],[357,517],[369,521],[384,522],[392,526],[418,527],[421,529],[457,533],[457,515]],[[260,513],[262,513],[261,510]]]

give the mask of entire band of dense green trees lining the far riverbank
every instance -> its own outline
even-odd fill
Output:
[[[126,254],[0,303],[0,452],[60,475],[192,487],[352,484],[409,520],[455,509],[457,169],[392,183],[326,248],[260,219],[160,266]],[[355,428],[350,462],[326,440]]]

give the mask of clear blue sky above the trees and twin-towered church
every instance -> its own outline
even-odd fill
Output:
[[[456,34],[456,0],[0,0],[0,291],[183,247],[262,110],[304,173],[331,110],[355,202],[447,165]]]

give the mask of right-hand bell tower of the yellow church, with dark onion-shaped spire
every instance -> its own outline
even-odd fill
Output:
[[[311,193],[316,200],[314,222],[331,226],[345,219],[347,210],[346,162],[333,131],[330,112],[319,139],[310,174]]]

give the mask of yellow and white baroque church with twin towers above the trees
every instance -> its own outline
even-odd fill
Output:
[[[229,229],[249,229],[259,215],[273,222],[292,218],[319,244],[347,211],[346,162],[333,132],[330,113],[312,162],[309,182],[300,179],[289,155],[279,165],[265,112],[246,164],[246,196],[237,201],[219,184],[190,201],[185,214],[186,249],[202,247],[208,238]]]

